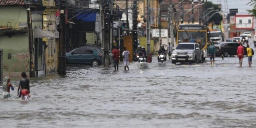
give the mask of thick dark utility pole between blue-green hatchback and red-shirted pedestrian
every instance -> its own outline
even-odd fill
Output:
[[[110,48],[110,11],[109,11],[109,4],[106,1],[104,4],[104,60],[103,66],[105,68],[109,68],[109,48]]]

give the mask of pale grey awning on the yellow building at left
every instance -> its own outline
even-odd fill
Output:
[[[42,30],[39,28],[34,29],[34,38],[48,38],[48,39],[54,39],[55,34],[51,31]]]

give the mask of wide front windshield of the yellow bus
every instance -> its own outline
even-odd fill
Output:
[[[200,49],[205,46],[205,35],[206,32],[191,32],[191,31],[180,31],[178,34],[179,43],[183,42],[193,42],[199,43]]]

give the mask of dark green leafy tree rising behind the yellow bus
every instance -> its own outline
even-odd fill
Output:
[[[213,8],[213,10],[221,10],[219,9],[218,5],[217,4],[213,4],[211,1],[209,2],[205,2],[205,10],[209,9],[209,8]],[[212,14],[214,14],[215,11],[211,12],[210,14],[208,14],[209,16],[211,16]],[[215,25],[219,25],[221,24],[221,21],[223,20],[223,17],[220,13],[216,13],[213,15],[212,18],[210,18],[208,20],[208,22],[214,22]]]

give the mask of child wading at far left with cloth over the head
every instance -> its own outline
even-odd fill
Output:
[[[10,95],[10,88],[12,90],[14,90],[12,84],[10,83],[11,82],[11,79],[9,76],[5,76],[4,77],[4,81],[3,81],[3,98],[10,98],[11,95]]]

